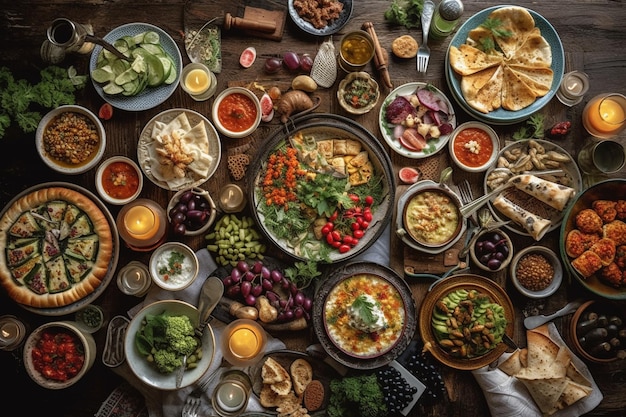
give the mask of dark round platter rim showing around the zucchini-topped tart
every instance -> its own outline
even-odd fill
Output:
[[[89,190],[87,190],[87,189],[85,189],[85,188],[83,188],[81,186],[78,186],[78,185],[75,185],[75,184],[66,183],[66,182],[47,182],[47,183],[42,183],[42,184],[35,185],[33,187],[30,187],[30,188],[22,191],[20,194],[15,196],[2,209],[2,211],[0,212],[0,218],[2,216],[4,216],[6,211],[17,200],[19,200],[20,198],[24,197],[25,195],[31,194],[31,193],[33,193],[35,191],[39,191],[39,190],[50,188],[50,187],[65,187],[65,188],[69,188],[71,190],[80,192],[81,194],[85,195],[90,200],[92,200],[94,203],[96,203],[96,205],[102,211],[102,213],[105,215],[105,217],[106,217],[106,219],[107,219],[107,221],[109,223],[109,227],[110,227],[110,230],[111,230],[111,238],[113,240],[113,250],[112,250],[112,254],[111,254],[111,261],[109,262],[109,267],[107,269],[107,274],[104,277],[104,279],[102,280],[102,283],[92,293],[88,294],[87,296],[85,296],[84,298],[82,298],[82,299],[80,299],[78,301],[75,301],[74,303],[68,304],[68,305],[63,306],[63,307],[36,308],[36,307],[31,307],[31,306],[28,306],[28,305],[25,305],[25,304],[19,304],[25,310],[31,311],[31,312],[36,313],[36,314],[41,314],[42,316],[63,316],[65,314],[75,313],[76,311],[80,310],[84,306],[86,306],[88,304],[91,304],[93,301],[95,301],[104,292],[104,290],[106,290],[106,288],[108,287],[109,283],[113,279],[113,276],[115,275],[115,270],[117,268],[117,262],[118,262],[118,259],[119,259],[119,252],[120,252],[120,239],[119,239],[119,234],[117,232],[117,227],[115,226],[115,219],[111,215],[111,212],[109,212],[109,210],[107,209],[106,205],[95,194],[93,194],[91,191],[89,191]]]

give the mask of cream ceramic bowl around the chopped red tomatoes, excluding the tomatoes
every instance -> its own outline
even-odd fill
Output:
[[[44,377],[38,370],[35,369],[32,352],[45,332],[64,332],[72,335],[77,341],[78,350],[82,351],[85,357],[82,368],[72,378],[66,381],[56,381]],[[31,379],[38,385],[47,389],[64,389],[80,381],[87,371],[91,369],[94,361],[96,360],[96,354],[96,341],[91,334],[81,331],[74,322],[53,321],[39,326],[33,330],[33,332],[26,339],[26,343],[24,344],[24,367],[26,368],[26,372]]]

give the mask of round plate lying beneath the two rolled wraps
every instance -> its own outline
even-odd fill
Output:
[[[582,183],[582,176],[580,174],[580,171],[578,170],[578,165],[576,165],[576,161],[571,157],[571,155],[569,155],[569,153],[567,153],[565,149],[561,148],[560,146],[550,141],[536,139],[535,142],[541,145],[545,149],[546,152],[555,151],[561,155],[569,156],[569,161],[563,162],[560,164],[560,168],[563,169],[564,175],[554,176],[553,178],[545,176],[542,178],[550,180],[550,181],[556,181],[563,185],[567,185],[568,187],[571,187],[575,190],[575,195],[578,195],[583,190],[583,183]],[[505,146],[504,148],[502,148],[500,150],[498,157],[505,157],[505,154],[511,151],[514,151],[515,149],[518,149],[518,148],[520,148],[523,153],[528,153],[528,144],[529,144],[528,140],[513,142]],[[489,174],[494,169],[496,169],[495,165],[490,167],[485,173],[485,179],[484,179],[485,194],[491,191],[491,188],[487,185],[487,182],[488,182],[487,179],[489,177]],[[563,221],[563,217],[565,216],[566,210],[558,211],[548,206],[547,204],[542,203],[536,198],[531,197],[530,195],[524,193],[523,191],[518,190],[515,187],[509,187],[508,189],[502,191],[501,195],[511,200],[513,203],[516,203],[520,207],[540,217],[543,217],[544,219],[550,220],[551,224],[550,224],[550,227],[548,228],[548,232],[557,229],[561,225],[561,222]],[[496,220],[498,221],[509,220],[508,217],[504,216],[502,213],[500,213],[500,211],[498,211],[493,206],[492,201],[493,199],[489,201],[488,205],[489,205],[489,209],[491,210],[491,213],[496,218]],[[571,205],[572,202],[570,201],[569,204]],[[524,236],[530,236],[530,234],[526,231],[526,229],[524,229],[522,226],[518,225],[515,222],[508,223],[504,227],[506,227],[507,229],[509,229],[510,231],[514,233],[524,235]]]

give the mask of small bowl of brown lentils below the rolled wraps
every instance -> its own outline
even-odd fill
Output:
[[[528,298],[546,298],[554,294],[563,280],[563,267],[554,251],[530,246],[519,251],[511,262],[511,280]]]

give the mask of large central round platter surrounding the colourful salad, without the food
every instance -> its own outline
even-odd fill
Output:
[[[301,241],[294,243],[285,238],[279,238],[270,230],[272,222],[269,219],[266,220],[265,215],[259,208],[260,205],[265,204],[266,201],[262,189],[264,181],[262,175],[267,167],[268,158],[270,155],[274,154],[278,148],[285,147],[286,144],[289,144],[290,138],[293,138],[296,134],[302,134],[303,137],[314,138],[317,143],[323,140],[335,141],[344,139],[346,142],[350,140],[358,143],[360,145],[360,151],[368,152],[369,162],[371,162],[374,171],[372,178],[378,175],[384,182],[380,202],[376,202],[375,205],[372,206],[372,220],[369,222],[369,226],[365,230],[363,237],[359,239],[356,246],[351,247],[350,250],[345,253],[341,253],[332,248],[333,250],[328,253],[328,256],[323,257],[319,255],[319,251],[307,252],[309,248],[308,243],[311,243],[313,239],[305,239],[305,243],[301,244]],[[248,187],[248,201],[253,208],[256,208],[252,210],[252,214],[259,229],[265,234],[267,239],[273,242],[287,255],[303,261],[319,260],[325,263],[345,261],[369,248],[380,237],[385,226],[391,220],[393,202],[395,200],[395,179],[391,160],[376,137],[351,119],[325,113],[305,115],[294,120],[293,126],[291,124],[289,125],[289,130],[285,131],[284,128],[280,128],[270,134],[261,149],[262,151],[259,157],[251,163],[248,169],[247,183],[251,185]],[[303,211],[301,211],[301,213],[304,215],[299,217],[298,220],[303,224],[310,224],[312,222],[311,215]],[[280,215],[283,214],[281,213]],[[311,231],[311,229],[312,227],[309,227],[307,231]],[[291,236],[293,236],[293,233]],[[321,241],[315,239],[313,243],[317,244],[318,242]],[[321,243],[327,245],[325,242]]]

